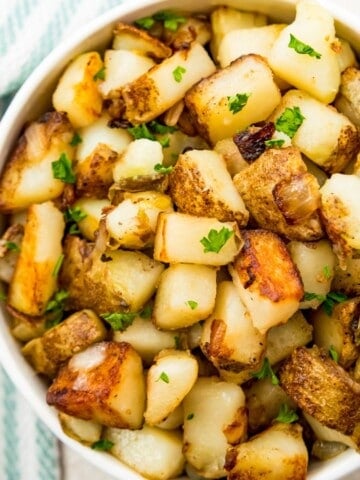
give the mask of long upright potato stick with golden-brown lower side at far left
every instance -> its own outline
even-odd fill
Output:
[[[19,312],[40,316],[57,289],[54,269],[62,255],[63,214],[52,202],[31,205],[21,251],[9,287],[8,303]]]

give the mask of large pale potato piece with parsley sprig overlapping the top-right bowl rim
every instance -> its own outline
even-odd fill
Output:
[[[304,53],[299,42],[310,47],[310,53]],[[280,78],[320,102],[331,103],[340,85],[338,48],[332,16],[321,5],[302,0],[296,5],[295,20],[275,40],[269,63]]]

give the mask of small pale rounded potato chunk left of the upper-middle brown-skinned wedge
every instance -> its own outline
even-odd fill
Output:
[[[120,155],[113,168],[115,182],[136,175],[153,175],[154,167],[163,162],[163,151],[159,142],[139,138],[132,141]]]

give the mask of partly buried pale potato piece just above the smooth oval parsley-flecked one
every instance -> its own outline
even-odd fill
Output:
[[[151,365],[161,350],[176,347],[177,338],[178,332],[159,330],[150,319],[140,316],[137,316],[126,330],[117,330],[113,333],[113,340],[130,343],[145,365]]]

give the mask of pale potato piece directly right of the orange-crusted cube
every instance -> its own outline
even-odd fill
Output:
[[[288,243],[288,250],[300,272],[304,291],[325,297],[331,289],[336,263],[336,256],[329,240],[291,241]],[[320,303],[319,298],[303,300],[300,308],[317,308]]]

